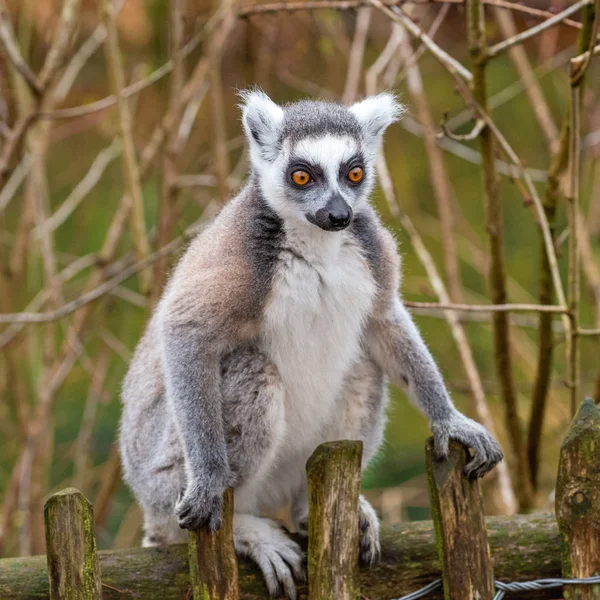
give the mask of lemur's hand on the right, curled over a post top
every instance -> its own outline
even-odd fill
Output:
[[[498,442],[488,431],[458,411],[453,411],[447,419],[432,422],[431,432],[437,458],[448,455],[451,439],[473,449],[474,454],[465,465],[465,475],[471,479],[483,477],[504,458]]]

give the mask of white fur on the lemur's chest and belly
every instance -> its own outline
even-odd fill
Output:
[[[367,261],[348,234],[321,235],[327,242],[323,247],[315,240],[289,239],[290,250],[282,253],[274,274],[262,333],[286,390],[286,437],[305,447],[318,441],[331,418],[359,356],[376,291]]]

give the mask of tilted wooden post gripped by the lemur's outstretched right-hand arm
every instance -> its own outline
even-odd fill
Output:
[[[494,572],[477,480],[464,474],[468,451],[450,442],[446,460],[426,446],[427,479],[446,600],[491,600]]]

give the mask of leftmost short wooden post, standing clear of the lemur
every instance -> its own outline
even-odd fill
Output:
[[[100,600],[94,512],[84,495],[68,488],[44,506],[50,600]]]

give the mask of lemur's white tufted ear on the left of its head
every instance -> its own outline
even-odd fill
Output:
[[[283,109],[261,90],[248,90],[242,97],[242,122],[251,154],[268,161],[275,159],[283,123]]]

